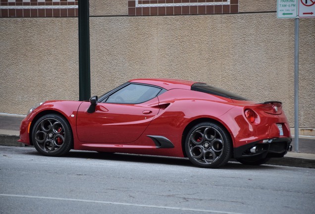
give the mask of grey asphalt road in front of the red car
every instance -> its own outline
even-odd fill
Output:
[[[311,214],[315,169],[0,146],[1,214]]]

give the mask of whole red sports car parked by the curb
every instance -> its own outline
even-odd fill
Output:
[[[31,108],[19,142],[45,156],[70,149],[188,157],[216,168],[259,165],[292,150],[280,102],[257,103],[205,83],[134,79],[90,101]]]

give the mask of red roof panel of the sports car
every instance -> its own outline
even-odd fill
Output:
[[[191,89],[191,86],[197,82],[190,80],[179,80],[179,79],[132,79],[129,82],[143,83],[149,85],[155,85],[166,90],[170,89]]]

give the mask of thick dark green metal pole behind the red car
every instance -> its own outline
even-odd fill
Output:
[[[91,97],[89,0],[79,0],[79,100]]]

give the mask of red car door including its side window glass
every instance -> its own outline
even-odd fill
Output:
[[[157,94],[162,89],[129,84],[98,103],[88,113],[89,102],[77,112],[77,135],[81,142],[131,143],[137,140],[159,111]]]

